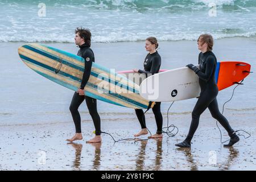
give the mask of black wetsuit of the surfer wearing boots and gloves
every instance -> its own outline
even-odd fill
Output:
[[[217,103],[218,87],[215,80],[215,70],[217,66],[217,59],[212,51],[199,54],[200,70],[191,67],[193,71],[199,76],[199,85],[201,88],[200,97],[196,102],[196,105],[192,111],[192,122],[189,129],[187,142],[191,142],[193,135],[199,125],[200,115],[205,109],[210,110],[212,117],[217,119],[218,122],[228,131],[229,136],[234,133],[232,127],[230,127],[228,120],[220,113]],[[188,65],[189,67],[189,65]]]

